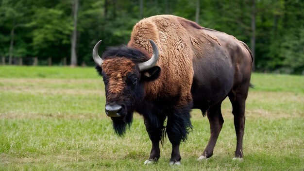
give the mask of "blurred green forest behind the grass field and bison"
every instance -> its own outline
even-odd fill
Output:
[[[93,66],[100,39],[101,51],[127,44],[141,18],[172,14],[244,41],[255,71],[304,74],[303,9],[303,0],[0,0],[0,63]]]

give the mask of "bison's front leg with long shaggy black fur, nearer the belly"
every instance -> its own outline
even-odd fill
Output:
[[[190,104],[189,104],[190,106]],[[190,121],[190,107],[168,115],[167,134],[172,144],[172,153],[169,164],[181,164],[181,154],[179,146],[181,141],[186,141],[189,129],[192,129]]]

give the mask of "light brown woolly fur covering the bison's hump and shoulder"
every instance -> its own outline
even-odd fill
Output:
[[[156,66],[161,68],[161,74],[155,81],[145,83],[146,97],[180,97],[177,105],[186,105],[192,100],[193,51],[189,33],[178,19],[162,15],[140,20],[133,28],[128,46],[152,54],[148,41],[152,39],[158,47],[160,57]]]

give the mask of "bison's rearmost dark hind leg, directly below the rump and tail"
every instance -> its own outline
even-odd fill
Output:
[[[248,95],[249,86],[239,86],[229,94],[232,103],[232,113],[236,129],[236,157],[243,157],[243,136],[245,128],[245,101]]]

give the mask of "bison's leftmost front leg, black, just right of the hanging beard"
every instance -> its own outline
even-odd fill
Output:
[[[144,164],[157,162],[160,157],[159,141],[161,141],[162,137],[165,136],[163,130],[164,120],[165,118],[161,119],[160,126],[157,127],[153,125],[149,119],[144,118],[146,130],[152,141],[152,149],[151,149],[150,157],[148,160],[145,161]]]

